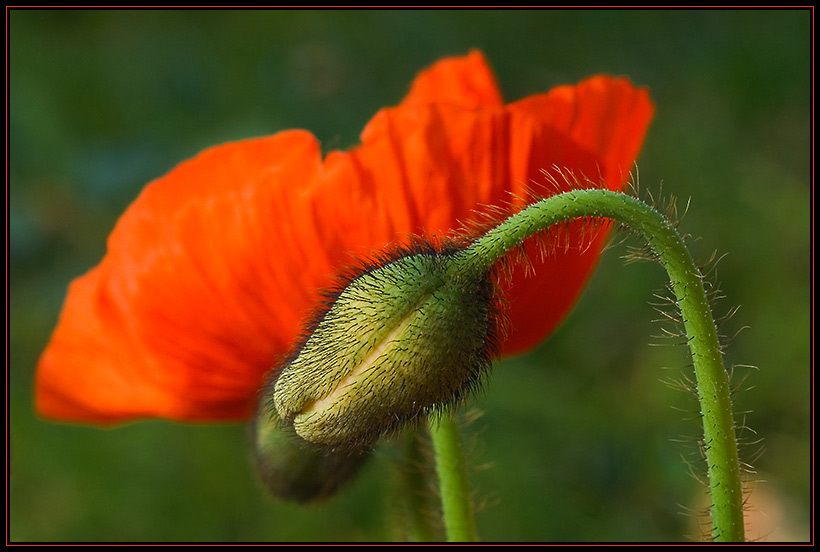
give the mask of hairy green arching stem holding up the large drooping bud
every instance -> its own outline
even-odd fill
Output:
[[[666,268],[688,336],[703,417],[712,536],[744,540],[743,498],[729,378],[703,278],[677,230],[660,213],[632,196],[609,190],[575,190],[535,203],[476,240],[453,269],[485,272],[525,239],[553,224],[583,217],[616,220],[639,232]]]

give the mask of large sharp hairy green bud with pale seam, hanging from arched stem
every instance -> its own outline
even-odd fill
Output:
[[[362,446],[478,384],[494,351],[492,285],[459,274],[456,259],[405,254],[338,292],[274,386],[297,434]]]

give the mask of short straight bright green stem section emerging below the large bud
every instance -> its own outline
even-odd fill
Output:
[[[449,542],[475,542],[473,503],[461,452],[456,421],[447,415],[430,422],[430,436],[436,454],[444,528]]]

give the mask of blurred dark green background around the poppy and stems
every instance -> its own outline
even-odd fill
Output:
[[[357,141],[436,59],[480,48],[509,100],[594,73],[651,89],[642,188],[691,198],[717,250],[727,364],[759,481],[750,537],[810,538],[811,22],[796,11],[20,11],[9,13],[9,535],[13,541],[401,537],[396,446],[338,499],[277,503],[242,425],[99,430],[32,412],[68,282],[141,187],[220,142],[288,128]],[[490,541],[700,538],[689,372],[650,305],[665,275],[609,250],[576,311],[471,403],[477,522]],[[740,378],[736,378],[739,380]],[[753,431],[752,431],[753,430]],[[756,442],[760,440],[760,442]]]

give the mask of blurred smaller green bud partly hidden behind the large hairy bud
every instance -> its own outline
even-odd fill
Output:
[[[270,408],[260,409],[253,428],[260,479],[276,498],[313,502],[331,497],[353,478],[368,449],[334,451],[305,441]]]

